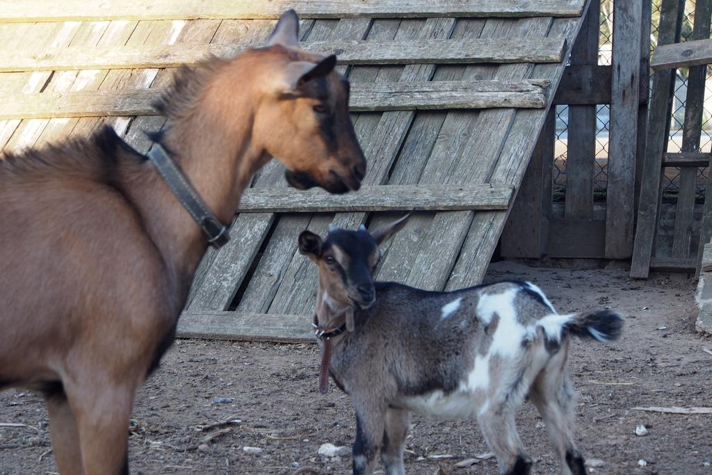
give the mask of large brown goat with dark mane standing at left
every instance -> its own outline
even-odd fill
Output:
[[[152,138],[222,222],[271,157],[302,189],[365,174],[347,80],[297,42],[289,11],[267,46],[184,68],[157,105]],[[172,343],[201,229],[109,127],[0,160],[0,203],[0,389],[43,392],[63,474],[127,473],[135,392]]]

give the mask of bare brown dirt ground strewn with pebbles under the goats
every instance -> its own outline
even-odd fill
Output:
[[[712,340],[693,330],[692,280],[634,281],[620,266],[582,271],[494,263],[487,280],[501,278],[537,283],[561,313],[610,307],[627,318],[624,335],[614,344],[572,345],[580,448],[602,464],[591,473],[712,474],[712,415],[634,409],[712,407],[712,355],[703,352]],[[327,442],[350,448],[355,421],[348,397],[333,385],[327,395],[318,393],[317,372],[318,351],[311,343],[178,341],[138,395],[130,429],[132,473],[290,474],[297,467],[350,473],[350,453],[318,455]],[[205,427],[226,420],[233,422]],[[2,425],[7,423],[26,426]],[[644,437],[635,434],[639,424],[649,432]],[[559,473],[544,424],[528,402],[518,425],[535,473]],[[487,452],[474,422],[414,417],[406,470],[496,473],[494,459],[455,466]],[[41,398],[1,393],[0,474],[54,471]]]

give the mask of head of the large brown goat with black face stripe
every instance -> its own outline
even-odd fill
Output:
[[[291,186],[355,191],[366,160],[349,116],[349,82],[335,71],[336,56],[298,48],[298,32],[298,16],[287,11],[266,48],[256,50],[261,77],[253,140],[288,168]]]

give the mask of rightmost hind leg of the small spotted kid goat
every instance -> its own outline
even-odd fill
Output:
[[[567,348],[561,348],[539,373],[529,397],[549,429],[561,457],[563,475],[585,475],[584,459],[576,447],[573,391],[566,371]]]

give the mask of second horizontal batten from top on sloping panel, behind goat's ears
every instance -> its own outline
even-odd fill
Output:
[[[340,64],[422,63],[558,63],[563,38],[472,38],[460,41],[314,41],[300,46],[315,53],[336,54]],[[0,51],[0,73],[115,68],[195,66],[209,56],[230,58],[244,44],[115,46],[105,48],[26,48]]]

